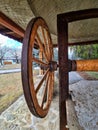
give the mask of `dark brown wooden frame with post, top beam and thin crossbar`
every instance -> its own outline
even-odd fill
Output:
[[[59,51],[59,111],[60,111],[60,130],[67,128],[66,101],[69,97],[69,68],[68,68],[68,46],[86,45],[95,41],[84,41],[78,43],[68,43],[68,23],[84,19],[98,18],[98,9],[87,9],[59,14],[57,16],[58,30],[58,51]],[[64,78],[65,77],[65,78]]]

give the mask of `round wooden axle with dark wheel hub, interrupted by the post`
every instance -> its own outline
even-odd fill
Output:
[[[41,65],[42,70],[56,71],[59,64],[51,61],[48,65]],[[98,71],[98,59],[95,60],[68,60],[69,71]]]

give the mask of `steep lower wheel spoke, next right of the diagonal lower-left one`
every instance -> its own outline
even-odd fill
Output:
[[[47,101],[47,89],[48,89],[49,76],[50,76],[50,73],[48,73],[47,78],[46,78],[46,85],[45,85],[45,90],[44,90],[44,94],[43,94],[41,108],[43,108],[44,103]]]

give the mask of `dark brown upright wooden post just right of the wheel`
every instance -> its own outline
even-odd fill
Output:
[[[59,111],[60,130],[67,128],[66,100],[68,98],[68,24],[62,17],[57,17],[59,51]]]

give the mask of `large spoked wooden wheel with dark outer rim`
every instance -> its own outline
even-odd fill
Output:
[[[34,18],[29,22],[23,40],[22,82],[30,111],[41,118],[47,115],[52,100],[54,84],[52,58],[53,46],[49,29],[41,17]],[[36,79],[34,66],[39,66],[40,70],[44,71],[37,84],[34,81]]]

